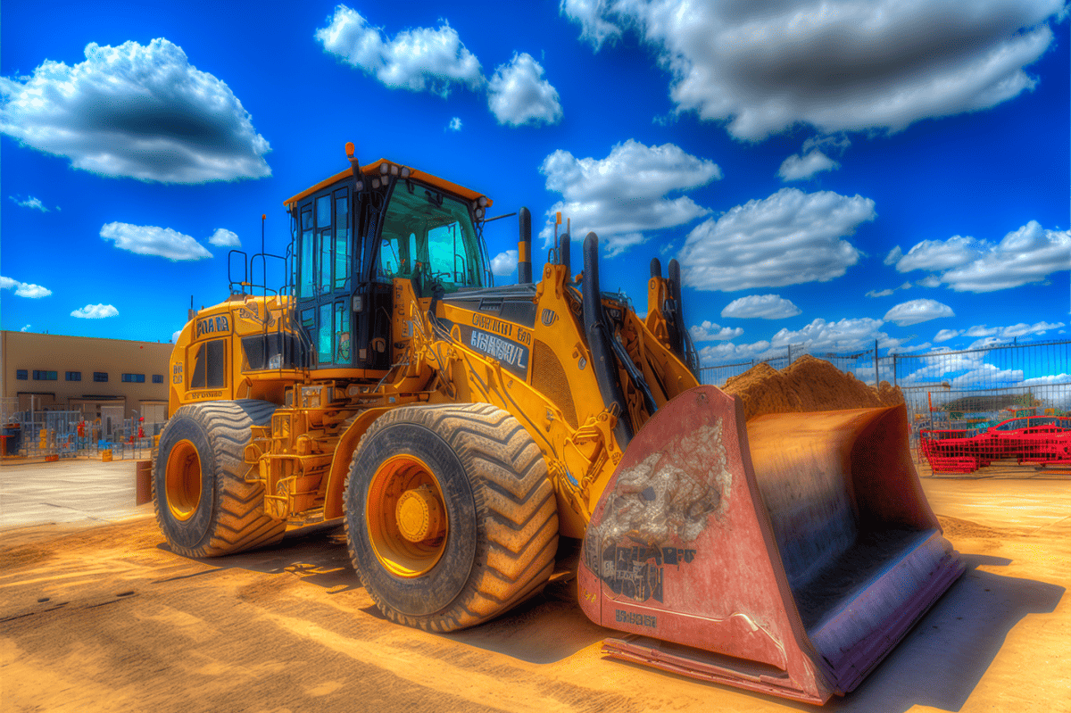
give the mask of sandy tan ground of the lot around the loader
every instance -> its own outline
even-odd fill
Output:
[[[440,636],[382,619],[341,527],[179,557],[134,469],[0,468],[0,710],[816,710],[603,657],[567,578]],[[922,484],[967,573],[826,710],[1071,711],[1071,479]]]

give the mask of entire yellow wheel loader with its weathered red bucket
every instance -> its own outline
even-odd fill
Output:
[[[191,310],[152,471],[186,557],[344,518],[383,615],[451,632],[578,551],[612,657],[824,703],[963,572],[921,491],[904,407],[767,414],[697,378],[680,267],[647,313],[568,233],[494,286],[481,193],[379,160],[287,199],[285,255]],[[233,257],[233,256],[232,256]],[[285,285],[253,285],[278,260]],[[250,266],[253,266],[252,269]],[[261,266],[261,273],[267,270]]]

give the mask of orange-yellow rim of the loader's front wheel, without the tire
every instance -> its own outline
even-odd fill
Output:
[[[379,466],[368,486],[365,521],[376,559],[397,577],[431,572],[447,549],[442,488],[414,456],[392,456]]]

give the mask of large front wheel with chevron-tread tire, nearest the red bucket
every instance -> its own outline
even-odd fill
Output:
[[[450,632],[482,623],[554,572],[558,510],[543,454],[516,419],[487,404],[380,416],[353,454],[345,505],[353,568],[401,624]]]

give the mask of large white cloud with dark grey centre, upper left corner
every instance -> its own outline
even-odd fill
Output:
[[[167,40],[86,46],[74,66],[46,60],[0,77],[0,131],[75,168],[165,183],[271,175],[271,148],[226,84]]]

